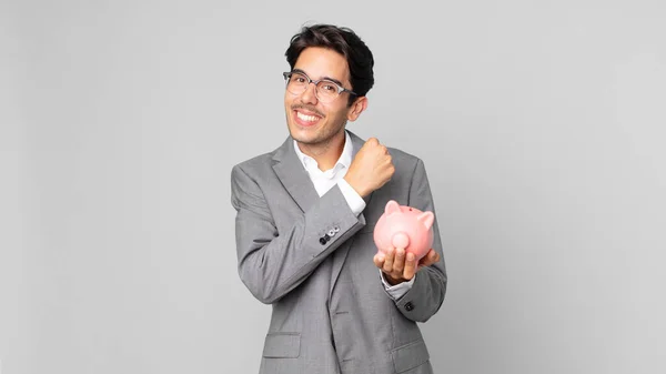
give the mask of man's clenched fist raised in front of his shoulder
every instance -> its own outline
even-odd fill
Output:
[[[345,181],[362,196],[386,184],[395,168],[386,146],[375,138],[370,138],[359,150],[344,176]]]

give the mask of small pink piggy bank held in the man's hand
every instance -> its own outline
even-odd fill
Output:
[[[433,212],[389,201],[374,229],[377,250],[384,252],[390,246],[402,247],[406,253],[414,253],[416,261],[421,260],[433,245],[434,220]]]

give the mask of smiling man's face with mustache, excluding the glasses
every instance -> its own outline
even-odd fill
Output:
[[[304,49],[293,70],[303,71],[312,80],[331,78],[345,89],[352,89],[346,60],[330,49]],[[357,104],[347,107],[349,94],[343,92],[332,102],[324,103],[317,100],[314,84],[309,84],[299,95],[284,90],[286,124],[292,138],[303,144],[324,145],[336,135],[344,137],[342,130],[346,121],[354,121],[360,114]]]

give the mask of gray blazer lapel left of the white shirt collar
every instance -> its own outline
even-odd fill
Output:
[[[273,160],[278,161],[273,164],[273,170],[284,189],[303,212],[307,211],[319,200],[319,194],[294,151],[294,140],[291,137],[275,151]]]

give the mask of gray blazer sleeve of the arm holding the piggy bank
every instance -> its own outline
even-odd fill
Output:
[[[437,213],[435,212],[425,166],[420,159],[412,176],[408,200],[410,206],[435,213],[433,250],[440,254],[440,261],[431,266],[422,267],[416,273],[414,284],[410,291],[395,301],[395,305],[405,317],[415,322],[426,322],[437,313],[444,302],[447,277],[437,225]]]

